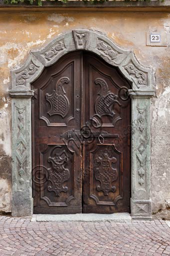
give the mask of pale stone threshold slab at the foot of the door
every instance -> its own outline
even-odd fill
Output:
[[[131,223],[131,214],[128,212],[97,214],[97,213],[76,213],[76,214],[33,214],[32,222],[126,222]]]

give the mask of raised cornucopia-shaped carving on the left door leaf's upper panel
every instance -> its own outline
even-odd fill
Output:
[[[69,101],[65,95],[65,90],[63,89],[63,84],[68,83],[68,77],[61,77],[56,83],[56,89],[52,94],[46,93],[46,100],[50,103],[49,115],[60,114],[64,117],[69,109]]]

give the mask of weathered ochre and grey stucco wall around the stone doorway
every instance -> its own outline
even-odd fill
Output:
[[[170,202],[170,14],[138,12],[0,13],[0,211],[11,210],[10,69],[22,65],[30,49],[39,49],[60,33],[92,28],[134,50],[141,64],[155,69],[152,99],[151,197],[157,212]],[[162,33],[164,45],[147,46],[146,32]],[[170,205],[169,205],[170,206]]]

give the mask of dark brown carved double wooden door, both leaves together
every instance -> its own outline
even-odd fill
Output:
[[[76,51],[32,83],[34,213],[130,211],[130,83]]]

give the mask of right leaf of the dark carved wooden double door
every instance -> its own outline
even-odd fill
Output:
[[[130,212],[130,84],[90,53],[83,70],[83,125],[92,134],[83,143],[83,212]]]

